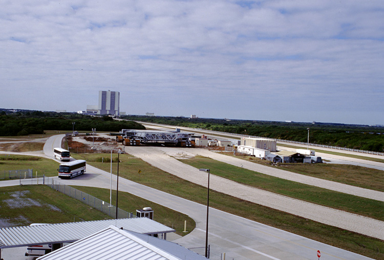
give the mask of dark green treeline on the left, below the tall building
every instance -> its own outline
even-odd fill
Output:
[[[73,125],[73,123],[75,123]],[[133,121],[116,121],[110,116],[89,116],[56,112],[0,112],[0,136],[44,134],[44,130],[118,132],[121,129],[145,129]]]

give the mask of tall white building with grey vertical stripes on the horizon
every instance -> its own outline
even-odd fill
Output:
[[[98,114],[120,114],[120,92],[99,91]]]

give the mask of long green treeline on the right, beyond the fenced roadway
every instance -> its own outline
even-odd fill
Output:
[[[125,119],[269,137],[321,145],[384,152],[384,127],[332,123],[296,123],[225,119],[189,119],[167,116],[125,116]]]

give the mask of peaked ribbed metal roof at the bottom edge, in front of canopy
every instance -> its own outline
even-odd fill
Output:
[[[206,258],[173,242],[110,226],[38,258],[38,260],[50,259],[203,260]]]

